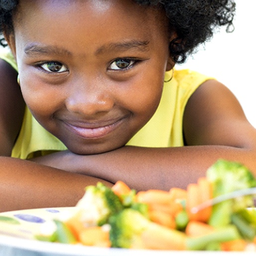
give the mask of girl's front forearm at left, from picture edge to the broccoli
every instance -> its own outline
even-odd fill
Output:
[[[0,211],[75,206],[86,185],[102,181],[26,160],[0,157]]]

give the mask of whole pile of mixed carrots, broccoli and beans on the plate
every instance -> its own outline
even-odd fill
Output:
[[[187,189],[136,192],[124,182],[112,188],[87,186],[77,212],[36,238],[85,246],[152,250],[256,250],[253,195],[239,196],[193,211],[212,198],[256,187],[243,165],[217,161]],[[49,226],[49,223],[48,223]],[[51,231],[50,231],[51,230]]]

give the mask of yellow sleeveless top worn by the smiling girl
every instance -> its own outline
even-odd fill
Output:
[[[0,58],[17,70],[8,51],[0,51]],[[172,72],[172,71],[171,71]],[[171,74],[167,72],[166,79]],[[159,107],[149,122],[127,143],[139,147],[184,146],[182,135],[183,113],[187,100],[199,85],[210,77],[190,70],[175,70],[171,82],[165,83]],[[46,131],[26,107],[23,124],[12,149],[12,157],[29,159],[54,151],[66,150],[65,145]]]

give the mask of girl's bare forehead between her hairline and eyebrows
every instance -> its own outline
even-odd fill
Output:
[[[161,14],[131,0],[21,0],[14,31],[19,49],[40,43],[95,54],[105,45],[112,49],[129,41],[130,46],[133,40],[137,45],[159,45],[161,39],[166,44]]]

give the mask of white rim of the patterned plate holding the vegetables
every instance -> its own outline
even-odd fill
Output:
[[[46,207],[46,208],[34,208],[34,209],[24,209],[1,212],[0,215],[12,214],[15,212],[30,212],[30,211],[40,211],[47,209],[56,210],[74,210],[76,207]],[[31,240],[26,238],[15,237],[14,235],[0,234],[0,246],[5,246],[8,248],[15,248],[20,250],[27,250],[36,253],[46,253],[55,254],[58,256],[133,256],[134,254],[140,256],[170,256],[174,253],[178,256],[198,256],[201,254],[215,255],[216,252],[212,251],[163,251],[163,250],[136,250],[136,249],[122,249],[122,248],[100,248],[100,247],[89,247],[82,244],[61,244],[52,243],[39,240]],[[247,253],[255,252],[217,252],[218,256],[245,256]]]

